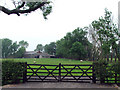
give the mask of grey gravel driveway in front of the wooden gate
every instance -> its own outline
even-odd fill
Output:
[[[113,85],[73,82],[26,82],[5,85],[2,88],[113,88]]]

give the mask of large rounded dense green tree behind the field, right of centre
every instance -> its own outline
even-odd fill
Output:
[[[88,54],[90,53],[90,49],[91,44],[87,39],[86,29],[77,28],[57,41],[56,55],[64,58],[85,59],[90,55]]]

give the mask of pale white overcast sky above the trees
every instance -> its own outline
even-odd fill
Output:
[[[89,26],[93,20],[104,16],[104,9],[113,13],[117,23],[119,0],[53,0],[53,10],[44,20],[41,12],[28,16],[6,15],[0,13],[0,38],[13,41],[25,40],[28,51],[37,44],[49,44],[63,38],[67,32],[77,27]],[[1,3],[1,2],[0,2]]]

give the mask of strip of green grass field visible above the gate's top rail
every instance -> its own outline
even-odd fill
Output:
[[[7,60],[7,59],[3,59]],[[80,62],[80,60],[71,60],[71,59],[59,59],[59,58],[41,58],[41,59],[36,59],[36,58],[22,58],[22,59],[9,59],[9,60],[14,60],[14,61],[20,61],[20,62],[27,62],[28,64],[34,64],[34,61],[36,62],[35,64],[49,64],[49,65],[58,65],[59,63],[61,64],[92,64],[92,61],[83,61]]]

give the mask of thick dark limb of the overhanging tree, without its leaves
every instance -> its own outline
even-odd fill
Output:
[[[5,8],[4,6],[0,6],[0,11],[6,13],[8,15],[17,14],[18,16],[20,16],[20,14],[31,13],[32,11],[35,11],[38,8],[44,6],[45,4],[49,4],[49,2],[38,3],[38,5],[36,5],[34,7],[30,7],[29,9],[20,10],[20,8],[22,8],[25,5],[25,2],[23,2],[20,6],[18,6],[16,9],[13,9],[13,10],[9,10],[8,8]]]

